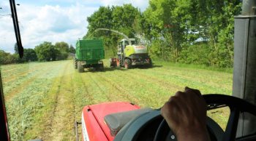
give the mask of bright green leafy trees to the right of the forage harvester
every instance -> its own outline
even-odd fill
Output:
[[[140,21],[144,23],[141,28],[148,39],[149,52],[154,56],[232,67],[233,17],[240,12],[239,0],[151,0]],[[206,53],[208,63],[198,58],[200,53]]]

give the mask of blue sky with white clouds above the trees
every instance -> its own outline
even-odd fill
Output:
[[[88,22],[100,6],[132,4],[142,12],[148,0],[15,0],[24,48],[34,48],[43,41],[55,44],[75,41],[86,35]],[[0,49],[14,52],[15,33],[9,0],[0,1]]]

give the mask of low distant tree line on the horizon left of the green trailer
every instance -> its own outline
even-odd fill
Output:
[[[56,44],[44,41],[34,47],[34,49],[24,49],[23,58],[20,58],[18,55],[17,44],[15,44],[14,50],[14,54],[0,50],[0,64],[67,60],[69,53],[75,54],[75,48],[64,41],[56,42]]]

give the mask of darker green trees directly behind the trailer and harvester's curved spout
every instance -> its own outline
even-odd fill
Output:
[[[98,31],[94,33],[97,28],[108,28],[120,31],[129,38],[134,38],[135,32],[135,19],[139,17],[140,11],[132,7],[132,4],[124,4],[123,6],[115,7],[99,7],[90,17],[87,18],[89,22],[86,36],[83,38],[102,37],[104,40],[105,56],[113,57],[116,55],[116,47],[118,41],[124,37],[112,33],[110,31]]]

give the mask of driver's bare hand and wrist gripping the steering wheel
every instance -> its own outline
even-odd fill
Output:
[[[178,141],[210,141],[206,129],[206,102],[199,90],[185,87],[184,92],[165,102],[161,114]]]

